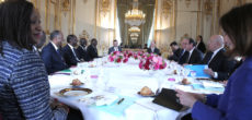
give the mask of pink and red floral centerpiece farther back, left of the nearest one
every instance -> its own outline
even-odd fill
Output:
[[[126,63],[128,61],[128,57],[124,57],[124,53],[119,51],[114,51],[108,56],[108,61],[115,63],[121,63],[121,62]]]

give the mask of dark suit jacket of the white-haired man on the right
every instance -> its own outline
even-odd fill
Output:
[[[209,59],[210,62],[209,60],[207,60],[207,58],[211,57],[209,56],[210,53],[207,52],[202,61],[202,64],[208,64],[208,68],[210,68],[214,72],[217,72],[218,77],[216,80],[228,80],[229,74],[234,68],[234,60],[231,60],[227,56],[225,56],[225,49],[220,49],[211,60]]]

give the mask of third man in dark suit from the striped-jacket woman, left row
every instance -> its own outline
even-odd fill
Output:
[[[77,48],[77,55],[80,58],[81,61],[89,61],[89,55],[87,51],[87,44],[88,40],[85,38],[80,38],[80,45]]]

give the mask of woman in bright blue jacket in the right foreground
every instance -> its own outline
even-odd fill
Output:
[[[247,57],[229,77],[224,94],[202,95],[176,89],[194,120],[252,120],[252,4],[233,8],[220,17],[228,53]],[[233,17],[236,16],[236,17]],[[190,120],[190,116],[186,116]]]

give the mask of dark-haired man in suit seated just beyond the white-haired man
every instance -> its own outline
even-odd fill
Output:
[[[184,41],[186,41],[185,52],[181,59],[179,60],[180,64],[197,64],[203,59],[203,52],[199,51],[195,46],[196,43],[193,38],[184,38]]]

